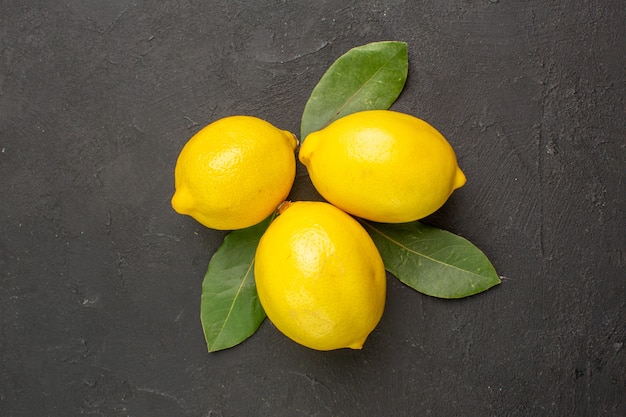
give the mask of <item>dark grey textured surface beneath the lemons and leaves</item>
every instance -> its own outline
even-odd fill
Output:
[[[0,415],[626,415],[621,0],[0,0]],[[395,110],[455,147],[426,221],[503,283],[444,301],[389,276],[362,351],[266,321],[209,354],[222,232],[173,212],[186,140],[232,114],[299,131],[328,66],[409,46]],[[292,197],[317,198],[299,167]]]

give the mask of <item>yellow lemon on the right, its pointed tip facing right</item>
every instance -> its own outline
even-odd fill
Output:
[[[441,133],[390,110],[353,113],[310,133],[299,158],[327,201],[383,223],[426,217],[465,184]]]

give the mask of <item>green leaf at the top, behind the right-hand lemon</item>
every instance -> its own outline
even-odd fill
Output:
[[[374,42],[346,52],[313,89],[302,114],[301,141],[348,114],[388,109],[404,88],[408,67],[404,42]]]

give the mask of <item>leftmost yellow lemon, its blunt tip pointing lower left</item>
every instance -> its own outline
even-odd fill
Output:
[[[255,225],[289,194],[296,146],[292,133],[256,117],[217,120],[180,152],[172,207],[213,229]]]

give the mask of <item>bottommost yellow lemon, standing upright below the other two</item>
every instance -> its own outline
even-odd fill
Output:
[[[317,350],[360,349],[385,305],[378,250],[365,229],[338,208],[287,204],[257,248],[261,305],[276,328],[297,343]]]

